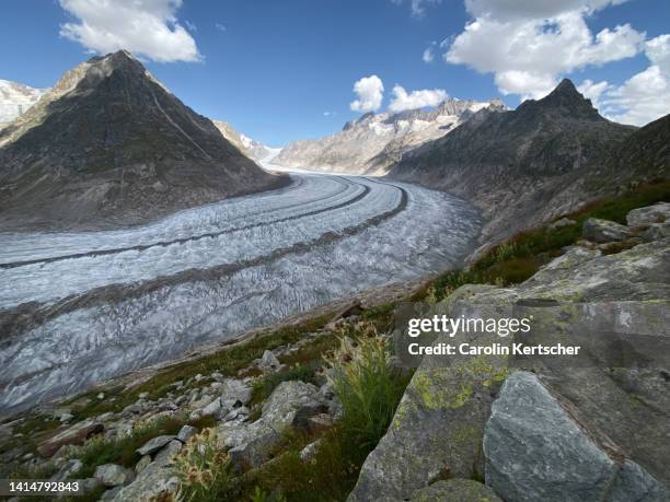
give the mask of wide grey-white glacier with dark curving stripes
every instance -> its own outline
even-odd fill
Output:
[[[0,409],[457,266],[478,231],[476,211],[442,192],[292,179],[123,231],[0,233],[0,312],[57,312],[0,335]]]

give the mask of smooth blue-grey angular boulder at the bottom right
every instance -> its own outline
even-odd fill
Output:
[[[486,482],[505,500],[666,500],[661,483],[605,436],[589,434],[575,411],[538,377],[513,373],[493,404],[484,434]]]

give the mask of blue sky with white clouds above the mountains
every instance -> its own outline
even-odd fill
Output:
[[[269,145],[448,96],[567,77],[610,119],[670,113],[668,0],[2,0],[0,79],[54,85],[125,48],[196,112]]]

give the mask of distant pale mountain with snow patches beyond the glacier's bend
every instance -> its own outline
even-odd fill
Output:
[[[274,163],[316,171],[385,174],[404,152],[443,137],[483,108],[505,109],[505,105],[497,100],[481,103],[450,98],[429,110],[368,113],[335,135],[290,143]]]

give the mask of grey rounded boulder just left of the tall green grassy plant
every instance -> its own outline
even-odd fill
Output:
[[[317,400],[317,395],[319,389],[312,384],[301,381],[281,382],[263,404],[263,420],[280,432],[291,425],[297,416],[300,420],[320,412],[323,405]],[[299,410],[301,415],[298,415]]]

